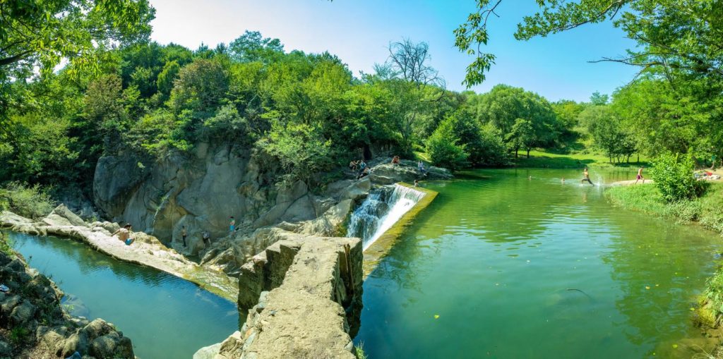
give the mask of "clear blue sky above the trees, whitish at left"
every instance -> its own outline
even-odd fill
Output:
[[[153,40],[197,48],[230,43],[257,30],[279,38],[287,51],[329,51],[354,74],[371,72],[387,59],[390,41],[410,38],[429,43],[432,66],[451,90],[461,82],[471,58],[453,47],[453,30],[474,10],[474,0],[150,0],[156,9]],[[610,22],[586,25],[568,33],[517,41],[516,24],[537,9],[534,0],[503,0],[493,18],[487,51],[497,64],[484,84],[487,92],[504,83],[523,87],[549,100],[587,100],[592,92],[610,94],[625,85],[636,69],[623,64],[589,64],[619,56],[634,46]]]

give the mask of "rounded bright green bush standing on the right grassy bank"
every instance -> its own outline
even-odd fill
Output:
[[[667,202],[695,199],[705,191],[706,183],[693,177],[695,162],[689,155],[667,153],[655,161],[651,175],[655,186]]]

